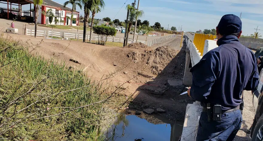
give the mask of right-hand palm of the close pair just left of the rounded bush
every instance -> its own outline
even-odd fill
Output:
[[[92,18],[91,18],[91,33],[92,33],[92,26],[94,22],[95,14],[98,12],[101,12],[101,9],[104,8],[105,4],[103,0],[91,0],[91,12],[92,12]],[[91,33],[90,33],[90,42],[91,42]]]

